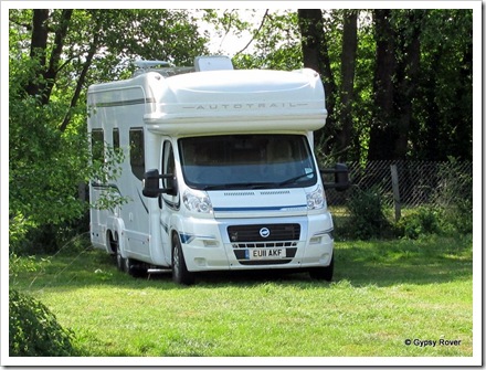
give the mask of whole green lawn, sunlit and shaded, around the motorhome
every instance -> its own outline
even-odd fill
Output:
[[[473,356],[471,237],[336,244],[332,283],[220,273],[182,287],[169,274],[124,275],[102,251],[66,249],[11,287],[73,329],[83,356]],[[461,345],[413,343],[441,338]]]

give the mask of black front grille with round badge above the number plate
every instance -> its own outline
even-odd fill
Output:
[[[266,235],[266,232],[268,235],[265,237],[263,235]],[[228,235],[230,236],[231,243],[237,244],[249,242],[267,244],[270,242],[298,241],[300,237],[300,224],[276,223],[229,226]]]

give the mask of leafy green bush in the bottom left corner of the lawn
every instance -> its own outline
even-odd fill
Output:
[[[10,356],[75,356],[73,337],[41,302],[14,289],[9,292]]]

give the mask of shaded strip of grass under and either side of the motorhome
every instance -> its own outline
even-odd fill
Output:
[[[77,252],[76,252],[77,253]],[[103,251],[86,249],[65,255],[38,257],[36,269],[11,279],[11,286],[27,290],[45,288],[76,289],[113,285],[119,289],[157,287],[187,288],[172,283],[171,273],[134,278],[117,271],[114,257]],[[335,249],[334,282],[348,281],[353,286],[434,284],[471,279],[472,242],[463,237],[429,237],[421,241],[341,242]],[[309,286],[328,285],[313,281],[303,271],[246,271],[197,274],[197,286],[252,286],[263,283]]]

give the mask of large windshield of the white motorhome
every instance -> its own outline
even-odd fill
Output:
[[[310,187],[317,171],[302,135],[225,135],[179,140],[186,183],[200,190]]]

